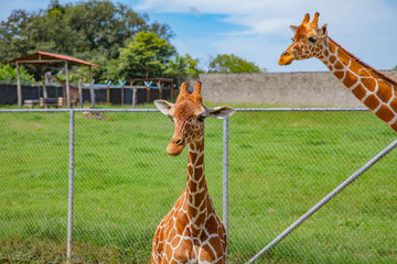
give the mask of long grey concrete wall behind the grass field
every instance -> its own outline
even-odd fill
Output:
[[[397,80],[397,70],[382,70]],[[364,107],[329,72],[201,74],[204,101],[277,107]],[[194,82],[191,81],[194,86]]]

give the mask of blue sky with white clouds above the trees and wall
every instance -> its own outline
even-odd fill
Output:
[[[84,1],[84,0],[79,0]],[[60,0],[62,4],[77,2]],[[277,64],[291,44],[289,25],[305,13],[320,12],[319,26],[329,36],[376,69],[397,65],[396,0],[117,0],[150,21],[167,23],[175,33],[171,44],[205,68],[217,54],[235,54],[271,73],[326,72],[316,58]],[[39,11],[50,0],[0,0],[0,21],[14,9]]]

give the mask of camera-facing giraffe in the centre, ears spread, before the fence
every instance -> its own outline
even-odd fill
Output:
[[[236,111],[205,107],[201,82],[192,94],[182,84],[175,105],[165,100],[155,100],[154,105],[174,123],[168,154],[178,156],[189,145],[189,158],[186,188],[157,228],[151,263],[225,263],[226,231],[215,213],[204,176],[204,119],[225,119]]]

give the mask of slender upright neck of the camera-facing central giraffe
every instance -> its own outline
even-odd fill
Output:
[[[214,211],[204,174],[204,135],[189,144],[186,204],[192,232],[198,232]]]

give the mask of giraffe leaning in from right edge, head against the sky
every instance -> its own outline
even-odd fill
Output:
[[[316,57],[373,113],[397,132],[397,81],[361,62],[328,36],[326,24],[318,28],[320,13],[312,22],[307,13],[299,26],[291,25],[293,43],[279,58],[279,65]]]

